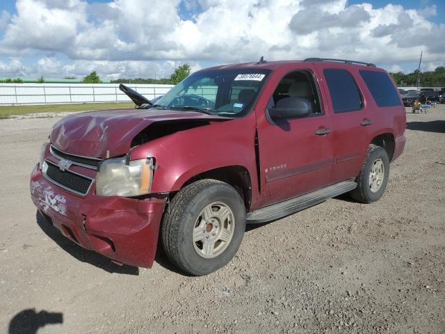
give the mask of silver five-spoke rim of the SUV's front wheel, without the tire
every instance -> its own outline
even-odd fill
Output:
[[[202,209],[193,225],[193,248],[206,259],[217,257],[229,246],[234,230],[232,209],[223,202],[213,202]]]

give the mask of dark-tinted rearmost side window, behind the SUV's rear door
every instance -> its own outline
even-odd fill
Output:
[[[374,101],[378,106],[400,106],[396,88],[385,72],[360,70],[366,86],[368,86]]]

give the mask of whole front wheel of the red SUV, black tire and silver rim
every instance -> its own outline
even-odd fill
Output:
[[[232,260],[244,231],[245,207],[238,191],[225,182],[199,180],[172,199],[161,236],[165,253],[175,266],[202,276]],[[209,246],[212,242],[213,251]]]

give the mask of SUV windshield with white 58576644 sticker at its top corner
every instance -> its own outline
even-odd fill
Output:
[[[256,69],[197,72],[173,87],[155,107],[241,117],[254,104],[269,73]]]

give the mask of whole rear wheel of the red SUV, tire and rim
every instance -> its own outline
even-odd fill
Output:
[[[381,170],[381,167],[383,170]],[[378,170],[379,173],[371,172]],[[380,184],[378,180],[382,177]],[[376,180],[371,182],[371,178]],[[389,157],[387,151],[377,145],[369,145],[368,152],[363,162],[362,170],[357,176],[357,188],[350,192],[350,195],[355,200],[362,203],[371,203],[383,196],[389,179]]]

